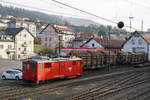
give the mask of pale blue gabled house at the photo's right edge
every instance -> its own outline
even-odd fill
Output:
[[[150,32],[135,31],[123,44],[124,52],[145,52],[150,61]]]

